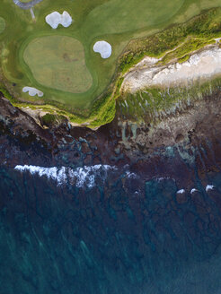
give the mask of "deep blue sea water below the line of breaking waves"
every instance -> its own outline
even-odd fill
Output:
[[[219,172],[183,191],[126,168],[82,185],[68,172],[0,169],[1,294],[221,292]]]

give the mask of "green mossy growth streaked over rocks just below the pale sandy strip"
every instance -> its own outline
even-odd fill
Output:
[[[176,87],[170,89],[148,88],[132,95],[125,93],[123,99],[118,99],[119,117],[142,123],[155,123],[168,114],[175,114],[182,107],[190,106],[194,101],[220,91],[221,79],[196,83],[191,87]]]

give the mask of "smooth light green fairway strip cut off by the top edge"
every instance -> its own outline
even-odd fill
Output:
[[[87,17],[96,34],[139,30],[168,21],[184,0],[111,0],[97,6]]]

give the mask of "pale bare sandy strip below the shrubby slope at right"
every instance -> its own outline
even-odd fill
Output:
[[[155,63],[158,60],[155,59]],[[221,73],[221,48],[205,48],[182,64],[147,65],[145,59],[125,75],[122,88],[136,92],[150,86],[187,85]]]

